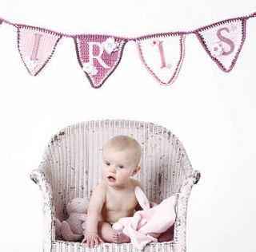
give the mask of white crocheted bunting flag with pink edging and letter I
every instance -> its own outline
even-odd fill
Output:
[[[137,40],[143,64],[162,85],[170,85],[178,77],[185,55],[185,37],[185,34],[166,33]]]

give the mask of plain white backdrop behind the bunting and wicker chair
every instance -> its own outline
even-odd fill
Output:
[[[254,0],[0,2],[0,16],[11,22],[127,37],[194,30],[254,11]],[[101,89],[93,89],[71,38],[63,38],[46,68],[31,77],[18,54],[16,29],[2,25],[1,251],[42,251],[42,204],[30,171],[61,128],[98,119],[149,121],[182,140],[194,169],[202,173],[190,196],[188,252],[255,251],[255,58],[256,18],[251,18],[230,73],[218,69],[190,35],[178,79],[164,87],[146,71],[129,42],[112,76]]]

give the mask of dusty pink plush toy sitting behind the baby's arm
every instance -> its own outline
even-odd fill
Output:
[[[88,200],[74,198],[66,206],[69,218],[63,222],[55,219],[56,237],[68,242],[77,242],[85,234]]]

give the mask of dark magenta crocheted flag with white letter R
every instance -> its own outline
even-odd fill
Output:
[[[74,37],[79,65],[95,89],[100,88],[118,66],[126,41],[106,35]]]

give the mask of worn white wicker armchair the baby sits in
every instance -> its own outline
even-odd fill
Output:
[[[91,249],[80,242],[55,239],[54,217],[66,219],[66,203],[74,197],[90,199],[101,181],[102,145],[112,136],[132,136],[142,146],[142,170],[137,178],[146,195],[157,203],[177,195],[174,239],[152,242],[145,251],[186,251],[186,209],[190,191],[200,173],[194,171],[176,136],[161,126],[130,120],[102,120],[74,124],[58,132],[47,145],[37,170],[30,178],[42,191],[43,251],[138,251],[131,243],[102,243]]]

